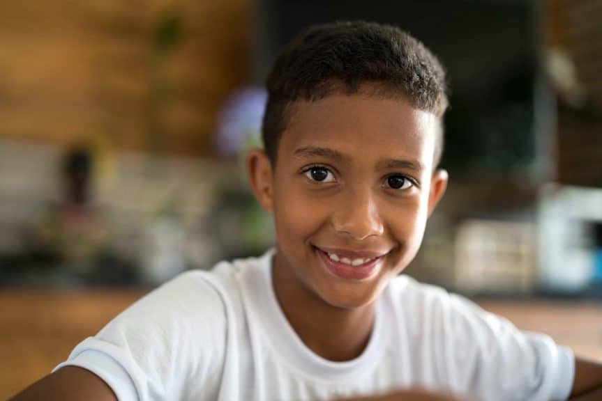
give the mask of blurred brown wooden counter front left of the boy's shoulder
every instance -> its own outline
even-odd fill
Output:
[[[0,290],[0,400],[50,373],[144,290]]]

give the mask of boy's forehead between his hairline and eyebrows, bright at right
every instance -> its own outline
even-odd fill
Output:
[[[278,155],[305,147],[331,148],[363,160],[415,159],[432,164],[437,117],[402,97],[331,95],[289,105]]]

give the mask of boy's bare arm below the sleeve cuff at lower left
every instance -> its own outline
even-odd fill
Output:
[[[117,401],[113,391],[89,370],[66,366],[31,384],[9,401]]]

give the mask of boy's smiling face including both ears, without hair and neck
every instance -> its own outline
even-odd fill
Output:
[[[288,116],[275,168],[260,151],[248,159],[276,265],[332,306],[366,305],[414,258],[445,190],[437,117],[361,93],[295,102]]]

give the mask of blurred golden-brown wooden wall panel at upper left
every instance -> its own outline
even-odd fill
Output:
[[[0,0],[0,138],[205,155],[246,79],[249,18],[248,0]]]

